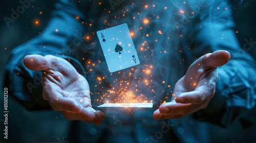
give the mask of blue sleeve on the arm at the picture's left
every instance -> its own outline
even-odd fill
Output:
[[[23,64],[26,55],[59,56],[67,59],[80,74],[84,74],[74,53],[75,47],[83,44],[81,35],[84,30],[81,21],[85,17],[71,1],[58,1],[55,7],[44,32],[12,50],[5,66],[5,87],[8,87],[11,96],[29,110],[51,107],[41,96],[41,71],[29,70]]]

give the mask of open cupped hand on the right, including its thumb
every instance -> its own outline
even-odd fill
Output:
[[[161,104],[154,112],[154,118],[180,118],[206,108],[215,94],[217,67],[226,64],[229,59],[229,52],[221,50],[197,59],[175,84],[172,101]]]

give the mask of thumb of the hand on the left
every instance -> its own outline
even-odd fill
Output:
[[[54,56],[27,55],[24,57],[24,65],[30,70],[46,70],[51,68],[51,63],[54,63]]]

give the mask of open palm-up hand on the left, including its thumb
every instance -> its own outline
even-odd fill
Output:
[[[31,70],[42,70],[42,97],[68,120],[100,125],[105,119],[103,112],[92,108],[87,80],[68,61],[51,55],[28,55],[24,65]]]

